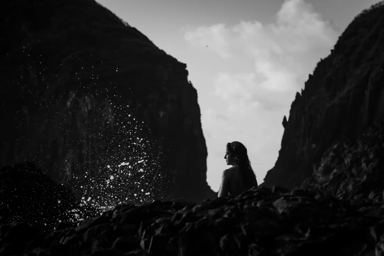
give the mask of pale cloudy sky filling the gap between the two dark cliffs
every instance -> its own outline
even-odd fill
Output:
[[[284,115],[320,58],[378,0],[97,0],[187,64],[218,191],[226,144],[243,143],[258,183],[281,148]]]

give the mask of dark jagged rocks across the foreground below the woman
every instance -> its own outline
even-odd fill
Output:
[[[0,255],[383,255],[384,201],[259,187],[198,204],[122,205],[101,216],[0,226]]]

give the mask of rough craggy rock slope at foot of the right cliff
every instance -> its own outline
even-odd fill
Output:
[[[314,166],[302,188],[340,199],[379,200],[384,188],[384,123],[357,140],[336,141]]]

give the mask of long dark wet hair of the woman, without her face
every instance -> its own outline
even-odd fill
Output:
[[[242,143],[233,141],[227,143],[227,151],[232,153],[233,157],[237,156],[235,163],[240,168],[241,176],[248,187],[257,187],[256,174],[252,169],[251,161],[248,158],[247,148]]]

